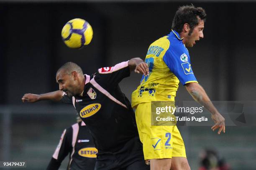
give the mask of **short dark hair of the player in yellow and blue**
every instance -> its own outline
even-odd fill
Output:
[[[179,7],[174,15],[172,29],[180,33],[182,32],[183,25],[187,23],[191,28],[189,31],[190,35],[200,20],[206,21],[205,10],[202,7],[194,7],[194,5],[185,5]]]

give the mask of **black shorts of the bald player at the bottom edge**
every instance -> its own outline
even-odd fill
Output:
[[[95,170],[150,170],[150,166],[145,163],[139,137],[135,137],[116,152],[97,153]]]

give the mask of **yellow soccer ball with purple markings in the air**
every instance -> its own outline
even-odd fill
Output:
[[[92,26],[83,19],[75,18],[67,22],[61,31],[64,43],[70,48],[81,48],[92,40]]]

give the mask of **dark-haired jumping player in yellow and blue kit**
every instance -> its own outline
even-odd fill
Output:
[[[195,41],[203,38],[205,10],[201,7],[182,6],[177,10],[169,35],[153,42],[146,54],[149,75],[132,94],[136,108],[136,122],[143,143],[146,160],[151,170],[190,170],[184,142],[176,125],[151,126],[151,101],[168,101],[172,107],[179,82],[192,97],[212,114],[218,134],[225,133],[225,119],[214,107],[192,71],[189,52]]]

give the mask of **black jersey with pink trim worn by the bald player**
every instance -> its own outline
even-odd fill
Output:
[[[128,61],[102,67],[94,75],[85,75],[82,96],[64,95],[61,99],[73,103],[99,151],[120,150],[128,140],[138,136],[131,103],[118,85],[128,76]]]

